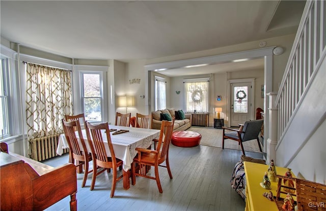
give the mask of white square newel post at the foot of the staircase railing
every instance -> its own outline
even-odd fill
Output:
[[[275,105],[275,100],[277,97],[277,92],[270,92],[266,95],[269,96],[269,105],[268,105],[268,139],[266,146],[266,162],[269,163],[271,159],[276,163],[276,145],[278,139],[278,109]]]

